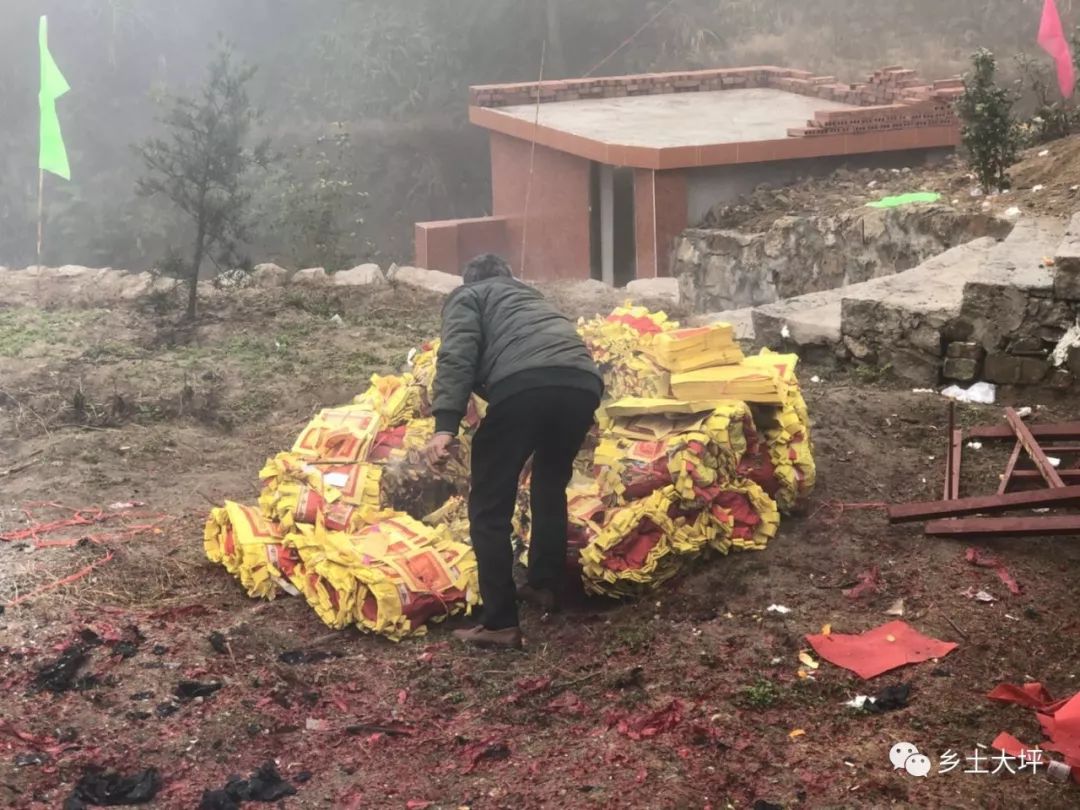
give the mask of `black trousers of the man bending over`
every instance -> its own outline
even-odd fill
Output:
[[[532,457],[528,583],[558,591],[566,571],[566,487],[599,402],[576,388],[537,388],[488,409],[473,437],[469,522],[480,567],[483,624],[517,626],[511,522]]]

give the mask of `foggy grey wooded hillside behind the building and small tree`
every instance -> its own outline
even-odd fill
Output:
[[[1074,0],[1059,3],[1066,26]],[[46,177],[43,262],[146,270],[189,234],[138,198],[132,145],[198,92],[219,38],[258,72],[259,134],[276,154],[255,190],[257,261],[328,270],[409,262],[417,220],[490,205],[470,84],[581,76],[667,0],[0,0],[0,265],[35,261],[38,17],[71,85],[59,99],[70,183]],[[1036,53],[1042,0],[675,0],[597,75],[771,64],[928,78],[970,53]]]

